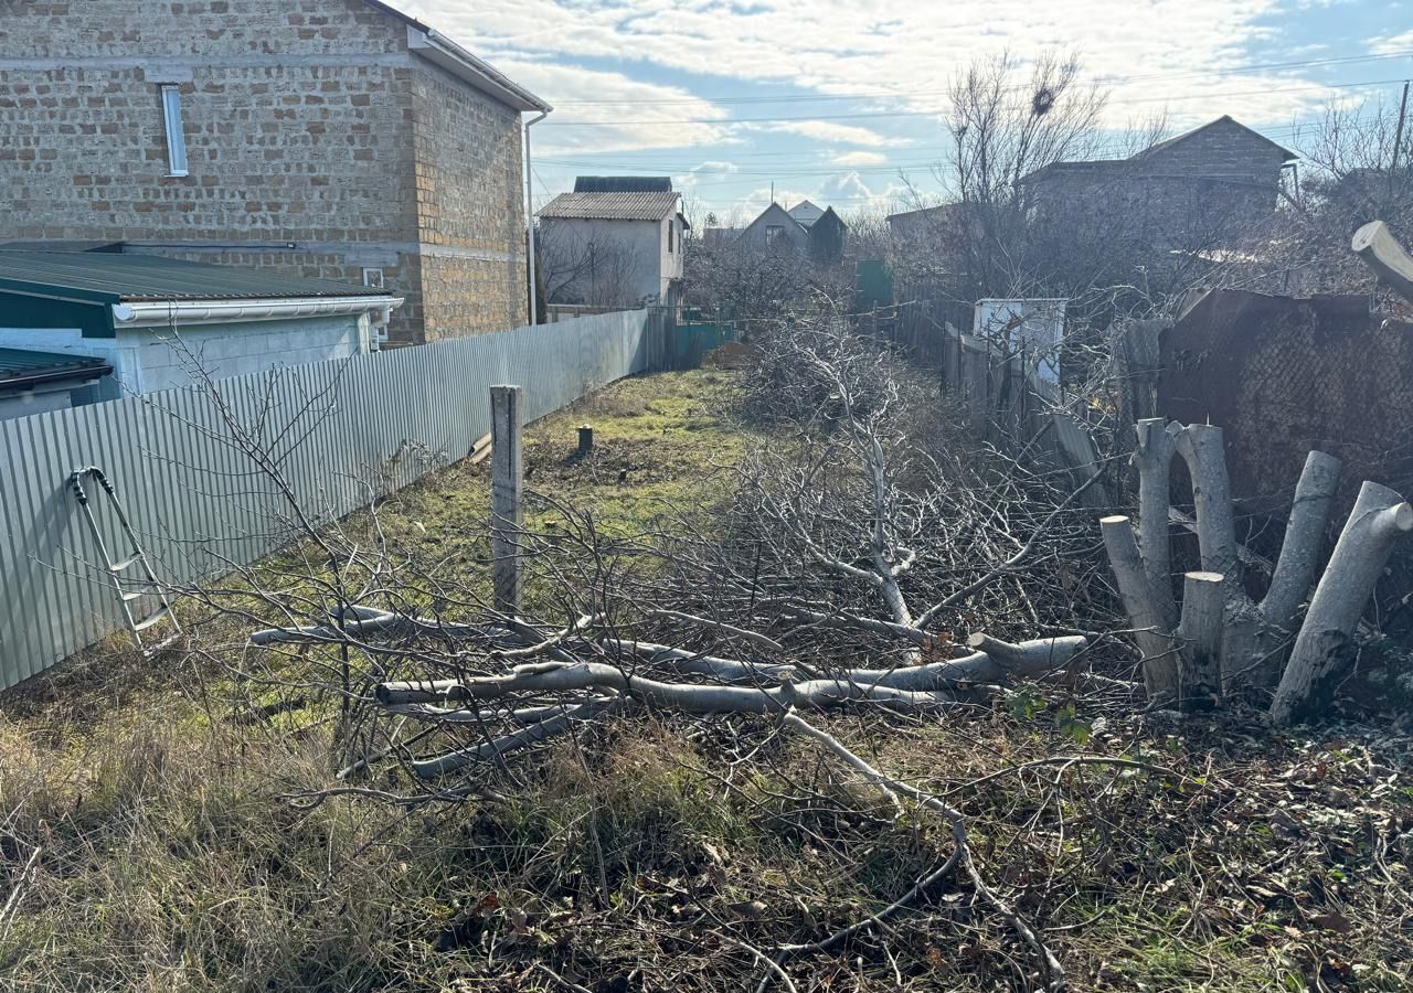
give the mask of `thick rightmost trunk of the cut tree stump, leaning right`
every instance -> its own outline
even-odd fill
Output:
[[[1413,530],[1413,507],[1386,486],[1365,483],[1325,566],[1290,662],[1276,688],[1270,718],[1290,723],[1316,712],[1332,694],[1352,651],[1354,630],[1373,595],[1393,544]]]

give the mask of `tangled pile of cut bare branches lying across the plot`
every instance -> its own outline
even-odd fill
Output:
[[[307,531],[308,561],[328,568],[298,593],[254,571],[240,589],[194,593],[261,624],[249,644],[266,678],[341,695],[338,784],[305,802],[483,797],[489,771],[513,777],[536,746],[588,725],[755,715],[818,743],[900,811],[907,798],[941,816],[954,849],[933,880],[964,874],[1058,989],[1064,969],[985,879],[962,812],[810,715],[986,710],[1019,681],[1132,698],[1133,684],[1091,671],[1084,622],[1105,607],[1077,607],[1065,589],[1095,559],[1092,514],[1067,476],[950,434],[935,390],[828,308],[760,347],[746,408],[776,431],[743,459],[732,503],[632,537],[555,504],[552,533],[519,534],[533,606],[497,610],[480,576],[421,568],[376,527],[369,541],[341,525]],[[379,774],[401,791],[372,785],[377,767],[403,770]]]

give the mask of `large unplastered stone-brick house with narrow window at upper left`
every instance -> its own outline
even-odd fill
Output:
[[[528,322],[521,112],[376,0],[4,4],[0,242],[386,287],[391,340]]]

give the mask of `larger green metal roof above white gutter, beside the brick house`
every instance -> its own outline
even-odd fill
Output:
[[[167,299],[383,297],[386,290],[107,251],[0,250],[0,290],[97,304]]]

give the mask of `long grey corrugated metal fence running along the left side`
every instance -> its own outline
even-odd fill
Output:
[[[292,534],[290,500],[247,448],[302,513],[341,517],[463,458],[490,431],[492,384],[523,386],[536,420],[664,367],[667,333],[656,311],[599,314],[0,421],[0,689],[123,629],[73,469],[102,468],[158,575],[191,583]],[[103,494],[90,499],[109,554],[126,557]]]

